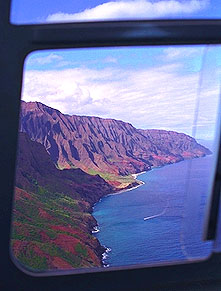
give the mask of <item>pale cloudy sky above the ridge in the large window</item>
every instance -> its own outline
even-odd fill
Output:
[[[115,118],[137,128],[192,135],[199,97],[196,138],[211,139],[219,100],[220,53],[219,46],[34,52],[25,62],[22,98],[67,114]]]

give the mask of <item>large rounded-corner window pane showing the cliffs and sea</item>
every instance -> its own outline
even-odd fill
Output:
[[[25,62],[11,253],[26,271],[207,258],[219,46],[34,52]]]

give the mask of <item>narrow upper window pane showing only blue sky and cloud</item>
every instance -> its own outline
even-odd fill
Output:
[[[128,19],[220,18],[219,0],[13,0],[15,24]]]

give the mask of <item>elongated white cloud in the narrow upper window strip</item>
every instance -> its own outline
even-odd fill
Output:
[[[191,14],[207,7],[209,0],[110,1],[78,13],[58,12],[48,15],[47,22],[93,21],[106,19],[145,19]]]

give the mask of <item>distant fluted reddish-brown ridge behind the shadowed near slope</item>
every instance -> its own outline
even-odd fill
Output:
[[[40,102],[22,101],[20,131],[43,144],[59,168],[103,175],[119,188],[125,184],[116,177],[210,154],[183,133],[136,129],[110,118],[66,115]]]

